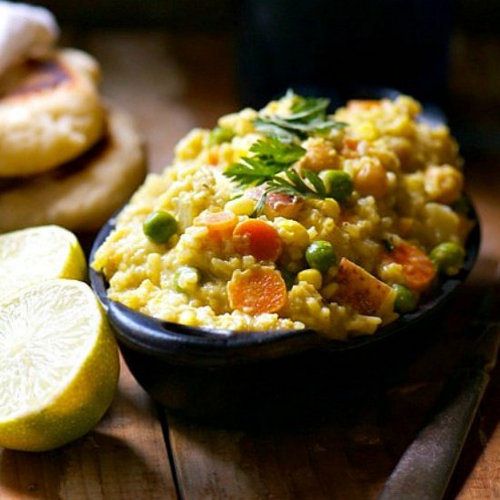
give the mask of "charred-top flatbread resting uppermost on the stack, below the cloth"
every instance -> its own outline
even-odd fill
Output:
[[[94,145],[105,110],[99,65],[75,49],[9,69],[0,78],[0,176],[46,172]]]

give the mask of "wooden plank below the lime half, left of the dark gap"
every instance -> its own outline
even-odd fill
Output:
[[[176,498],[162,428],[121,366],[115,402],[95,430],[45,453],[0,448],[0,498]]]

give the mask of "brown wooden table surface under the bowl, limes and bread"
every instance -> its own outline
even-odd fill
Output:
[[[238,107],[225,37],[92,32],[66,39],[100,60],[103,93],[135,115],[152,171],[170,161],[188,130],[212,127]],[[54,452],[0,450],[0,498],[375,498],[466,349],[454,331],[474,315],[471,297],[495,279],[498,165],[491,156],[468,165],[468,189],[483,224],[479,262],[448,310],[448,333],[417,356],[405,377],[360,386],[352,406],[301,426],[231,430],[170,415],[122,365],[115,402],[93,432]],[[447,498],[500,498],[499,416],[496,369]]]

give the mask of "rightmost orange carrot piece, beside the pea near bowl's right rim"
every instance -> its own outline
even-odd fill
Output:
[[[403,267],[406,285],[415,292],[423,292],[435,278],[435,265],[425,252],[415,245],[401,241],[392,252],[384,255],[383,262],[395,262]]]

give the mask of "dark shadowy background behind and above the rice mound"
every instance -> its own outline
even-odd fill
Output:
[[[45,0],[65,29],[225,38],[241,105],[288,86],[389,87],[444,110],[465,153],[500,153],[500,0]],[[335,102],[336,104],[336,102]]]

